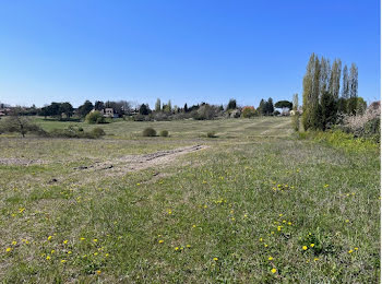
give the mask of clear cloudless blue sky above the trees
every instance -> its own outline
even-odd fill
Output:
[[[380,98],[378,0],[2,0],[0,102],[258,106],[301,96],[311,52]]]

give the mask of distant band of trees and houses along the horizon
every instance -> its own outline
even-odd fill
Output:
[[[89,100],[74,108],[69,102],[51,103],[44,107],[20,107],[0,103],[0,118],[8,116],[16,109],[22,116],[41,116],[50,119],[71,120],[82,119],[88,114],[99,114],[104,118],[129,118],[132,120],[172,120],[172,119],[216,119],[216,118],[251,118],[255,116],[289,116],[296,113],[301,113],[301,107],[293,106],[291,102],[279,100],[273,104],[273,99],[262,99],[259,107],[239,106],[236,99],[230,99],[226,106],[210,105],[201,103],[192,106],[172,106],[171,100],[162,103],[157,99],[154,109],[151,109],[148,104],[133,106],[127,100],[119,102],[102,102],[96,100],[94,104]]]

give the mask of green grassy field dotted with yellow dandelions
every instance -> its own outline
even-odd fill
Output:
[[[289,122],[0,135],[0,281],[378,283],[379,149],[299,140]]]

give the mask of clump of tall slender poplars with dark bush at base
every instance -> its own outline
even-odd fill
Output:
[[[302,81],[302,126],[305,130],[325,130],[335,125],[342,114],[365,111],[366,102],[358,97],[358,67],[350,69],[342,60],[310,56]]]

